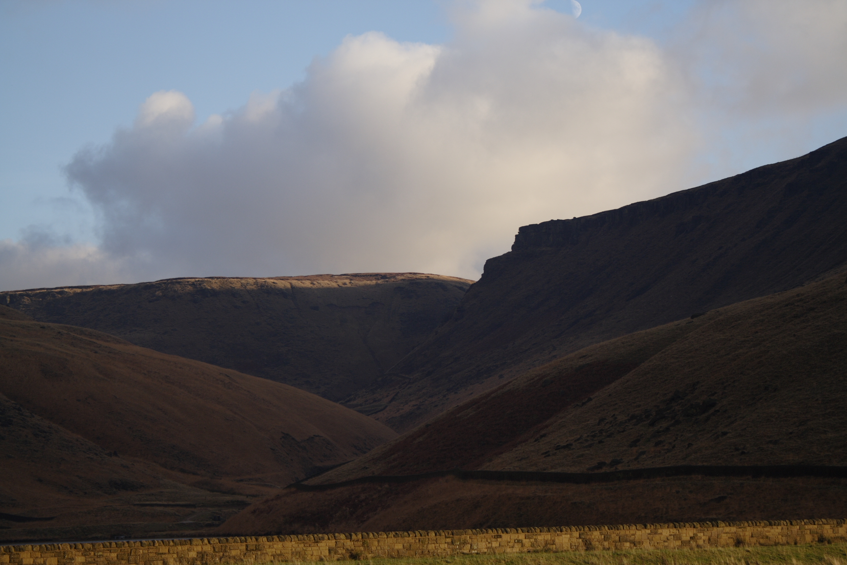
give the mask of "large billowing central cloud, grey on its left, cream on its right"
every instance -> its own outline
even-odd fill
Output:
[[[696,135],[651,42],[520,3],[459,19],[446,46],[347,37],[302,84],[197,130],[157,93],[69,165],[104,249],[169,274],[476,276],[521,224],[684,178]]]

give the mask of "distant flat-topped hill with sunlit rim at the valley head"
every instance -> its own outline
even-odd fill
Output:
[[[472,282],[417,273],[185,278],[3,292],[0,303],[337,401],[424,341]]]

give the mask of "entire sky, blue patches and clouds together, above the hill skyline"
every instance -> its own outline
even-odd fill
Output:
[[[479,278],[847,136],[844,0],[2,0],[0,290]]]

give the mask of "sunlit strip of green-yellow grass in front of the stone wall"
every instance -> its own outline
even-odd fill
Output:
[[[397,557],[338,562],[361,565],[847,565],[847,544],[710,549],[567,551],[499,556]],[[298,563],[297,565],[301,565]]]

